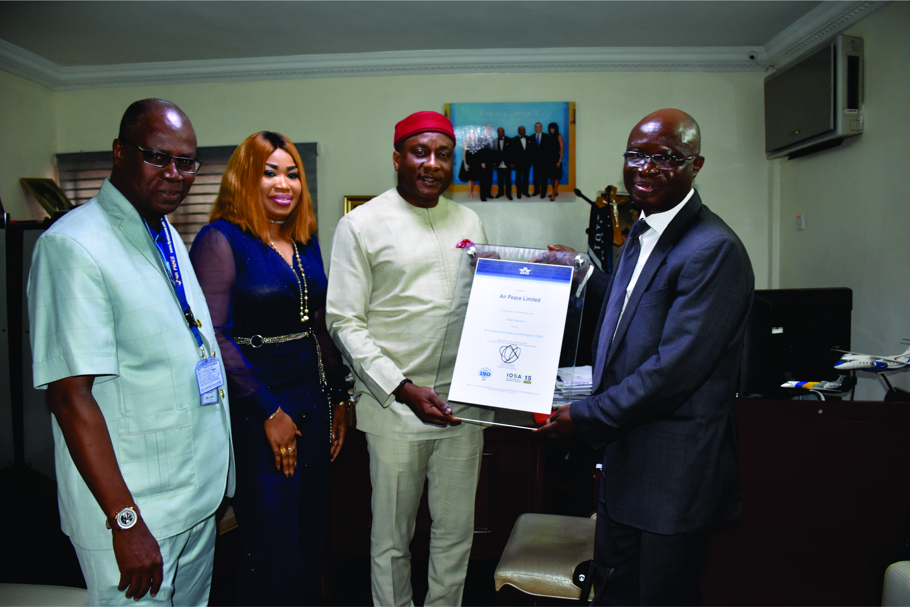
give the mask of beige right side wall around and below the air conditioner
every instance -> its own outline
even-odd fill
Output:
[[[894,355],[910,338],[910,3],[895,2],[846,33],[865,45],[864,133],[842,147],[780,165],[780,286],[854,291],[852,348]],[[795,218],[805,215],[805,229]],[[818,330],[824,330],[819,327]],[[814,379],[814,378],[800,378]],[[910,389],[910,375],[891,377]],[[884,383],[861,379],[857,398]]]

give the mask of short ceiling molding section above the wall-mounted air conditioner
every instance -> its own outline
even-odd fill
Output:
[[[891,4],[875,0],[827,0],[794,21],[764,45],[768,66],[780,68],[850,25]]]

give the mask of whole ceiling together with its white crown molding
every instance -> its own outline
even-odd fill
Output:
[[[764,71],[885,0],[0,2],[0,69],[56,90],[556,71]]]

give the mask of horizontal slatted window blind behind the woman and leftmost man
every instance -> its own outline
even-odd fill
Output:
[[[313,199],[313,211],[317,210],[316,144],[295,143],[303,170],[307,175],[309,196]],[[198,147],[196,155],[203,161],[196,174],[196,181],[189,194],[177,210],[167,216],[177,228],[187,248],[193,244],[199,230],[208,223],[208,214],[217,197],[221,176],[227,167],[227,160],[237,146]],[[74,205],[81,205],[94,197],[105,177],[110,177],[113,167],[111,152],[76,152],[57,154],[57,177],[60,188]]]

